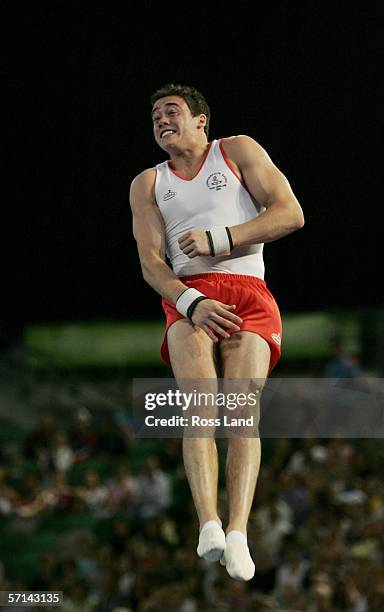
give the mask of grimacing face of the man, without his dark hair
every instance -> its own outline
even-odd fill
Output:
[[[157,144],[167,152],[179,150],[200,138],[205,115],[192,117],[188,104],[179,96],[167,96],[152,109],[153,133]]]

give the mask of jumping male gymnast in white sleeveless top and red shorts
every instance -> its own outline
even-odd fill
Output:
[[[220,363],[224,381],[260,393],[281,347],[279,310],[264,281],[263,244],[303,227],[302,209],[255,140],[208,141],[210,109],[196,89],[166,85],[152,96],[151,108],[155,140],[169,159],[135,177],[130,202],[143,276],[162,296],[166,315],[162,357],[177,381],[215,381]],[[220,559],[238,580],[255,572],[247,522],[260,453],[257,435],[228,440],[224,533],[215,437],[183,438],[200,522],[197,553]]]

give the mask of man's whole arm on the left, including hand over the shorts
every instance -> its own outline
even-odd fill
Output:
[[[165,261],[165,227],[155,199],[156,170],[144,170],[131,184],[130,204],[133,215],[133,235],[137,242],[144,280],[160,295],[176,304],[178,297],[189,289]],[[192,291],[190,289],[190,291]],[[193,311],[193,323],[217,342],[215,332],[223,337],[225,328],[239,330],[242,322],[232,311],[233,305],[205,299]]]

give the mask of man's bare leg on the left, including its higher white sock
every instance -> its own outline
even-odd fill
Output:
[[[168,348],[174,376],[183,390],[193,391],[196,382],[200,382],[201,391],[217,393],[214,344],[203,330],[196,331],[185,319],[176,321],[168,330]],[[203,416],[212,416],[214,411],[215,407],[211,414]],[[200,523],[198,554],[217,561],[225,539],[217,514],[218,456],[214,428],[210,435],[201,438],[184,435],[183,459]]]

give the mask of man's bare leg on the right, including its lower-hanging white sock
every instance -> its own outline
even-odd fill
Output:
[[[257,393],[260,396],[270,360],[268,343],[252,332],[237,332],[221,341],[223,377],[226,391]],[[255,417],[254,437],[230,437],[227,453],[227,490],[229,523],[226,529],[226,565],[230,575],[249,580],[254,564],[247,547],[247,523],[260,469],[261,444],[258,437],[260,402],[246,407],[241,416]],[[228,534],[229,537],[228,537]],[[232,551],[232,552],[231,552]],[[230,558],[230,557],[233,558]]]

